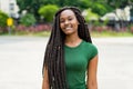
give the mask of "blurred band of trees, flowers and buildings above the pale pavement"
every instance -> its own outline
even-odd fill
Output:
[[[65,6],[81,9],[93,36],[133,36],[133,0],[0,0],[0,34],[49,34]]]

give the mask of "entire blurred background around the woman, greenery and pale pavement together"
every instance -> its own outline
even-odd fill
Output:
[[[41,89],[54,13],[78,7],[99,49],[99,89],[133,89],[133,0],[0,0],[0,89]]]

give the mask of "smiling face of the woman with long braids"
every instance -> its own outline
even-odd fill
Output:
[[[60,14],[60,28],[65,34],[78,33],[78,19],[72,10],[64,10]]]

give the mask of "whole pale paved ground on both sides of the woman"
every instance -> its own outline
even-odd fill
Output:
[[[0,89],[41,89],[48,38],[0,37]],[[99,89],[133,89],[133,38],[93,38]]]

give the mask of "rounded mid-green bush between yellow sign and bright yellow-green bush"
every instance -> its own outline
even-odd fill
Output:
[[[27,13],[20,19],[20,23],[24,24],[27,27],[33,26],[35,22],[37,22],[37,20],[34,18],[34,16],[31,13]]]

